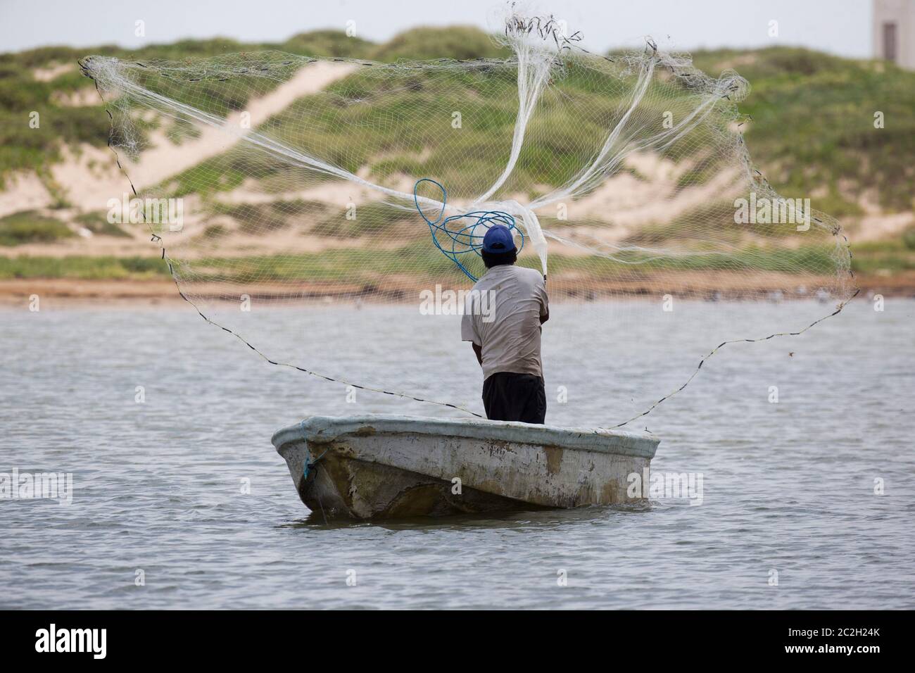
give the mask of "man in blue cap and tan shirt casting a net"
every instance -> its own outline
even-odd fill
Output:
[[[483,368],[483,406],[490,420],[543,423],[546,416],[541,325],[550,317],[544,277],[514,266],[518,251],[508,227],[483,237],[486,273],[468,293],[461,339],[472,342]],[[488,310],[480,310],[481,306]]]

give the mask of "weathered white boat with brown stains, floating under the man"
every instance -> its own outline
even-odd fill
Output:
[[[660,440],[493,420],[313,416],[278,430],[302,502],[323,516],[439,516],[636,503]]]

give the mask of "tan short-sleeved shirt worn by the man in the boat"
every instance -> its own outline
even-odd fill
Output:
[[[549,312],[540,272],[522,266],[493,266],[467,297],[461,339],[482,347],[483,379],[498,372],[544,375],[540,318]]]

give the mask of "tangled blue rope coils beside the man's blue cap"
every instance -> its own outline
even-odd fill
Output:
[[[425,216],[425,212],[423,212],[423,209],[419,205],[419,197],[416,192],[419,190],[419,185],[423,182],[431,182],[439,190],[442,190],[442,209],[438,212],[438,217],[436,217],[435,222]],[[413,186],[413,202],[416,206],[416,210],[425,220],[425,223],[429,225],[429,233],[432,234],[432,242],[436,244],[436,248],[438,248],[443,255],[458,265],[458,268],[463,271],[464,275],[470,278],[470,280],[476,283],[477,277],[471,274],[468,271],[467,266],[464,266],[461,262],[461,255],[475,253],[480,256],[480,250],[483,248],[483,236],[486,235],[486,232],[489,231],[490,226],[493,224],[503,224],[508,227],[510,232],[518,232],[521,236],[521,245],[518,247],[518,252],[520,253],[522,251],[522,248],[524,247],[524,233],[515,225],[514,218],[511,217],[509,213],[501,211],[474,211],[465,212],[462,215],[452,215],[443,220],[446,200],[447,191],[445,191],[445,188],[437,183],[436,180],[429,178],[416,180],[416,184]],[[459,228],[448,228],[449,223],[464,219],[469,220],[471,223],[467,226],[461,226],[463,223],[458,223]],[[479,226],[483,227],[482,233],[476,233],[477,227]],[[447,239],[450,239],[451,241],[450,247],[448,246]]]

